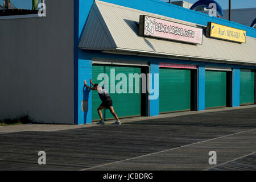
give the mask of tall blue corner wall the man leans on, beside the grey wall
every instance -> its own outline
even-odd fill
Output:
[[[92,78],[92,57],[89,51],[78,49],[80,38],[86,20],[90,13],[93,0],[74,1],[74,124],[92,122],[91,93],[84,88],[84,80],[89,82]],[[88,100],[88,111],[82,112],[81,102]]]

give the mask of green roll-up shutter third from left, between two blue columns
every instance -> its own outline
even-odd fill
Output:
[[[205,71],[205,108],[226,106],[226,72]]]

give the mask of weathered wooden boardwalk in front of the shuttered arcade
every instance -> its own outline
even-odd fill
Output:
[[[255,170],[255,155],[249,155],[256,151],[255,129],[253,107],[121,126],[0,133],[0,170]],[[209,165],[211,150],[223,165]],[[46,151],[45,166],[38,164],[39,151]]]

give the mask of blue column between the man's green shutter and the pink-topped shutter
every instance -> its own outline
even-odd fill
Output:
[[[159,62],[151,61],[150,73],[152,74],[151,88],[154,93],[150,94],[150,116],[159,115]]]

